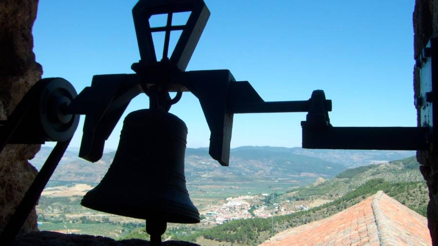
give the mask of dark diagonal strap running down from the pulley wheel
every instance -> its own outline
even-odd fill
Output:
[[[44,190],[47,182],[55,171],[56,166],[64,155],[67,146],[69,146],[71,139],[63,142],[57,142],[55,148],[50,153],[49,157],[44,162],[37,177],[35,177],[29,190],[27,190],[23,199],[17,207],[8,224],[4,228],[0,236],[0,245],[8,246],[14,242],[19,230],[23,226],[32,208],[37,204],[38,197]]]

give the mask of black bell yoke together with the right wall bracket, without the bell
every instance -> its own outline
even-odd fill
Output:
[[[173,13],[188,11],[191,14],[185,25],[172,26]],[[199,99],[211,132],[209,154],[223,166],[229,164],[235,113],[308,112],[307,120],[302,122],[304,148],[420,150],[429,148],[426,140],[435,134],[431,129],[435,96],[430,99],[430,95],[435,95],[430,69],[434,52],[425,52],[420,57],[420,65],[423,64],[417,66],[423,93],[417,100],[418,106],[421,104],[421,127],[332,127],[328,115],[331,101],[326,100],[322,90],[313,91],[306,101],[265,102],[248,81],[236,81],[229,70],[184,71],[210,15],[203,0],[139,0],[132,14],[141,56],[131,66],[136,73],[95,75],[91,87],[85,88],[68,109],[72,114],[86,114],[81,158],[99,160],[105,140],[129,101],[142,91],[147,94],[153,86],[168,92],[190,91]],[[166,25],[151,28],[149,18],[159,14],[167,14]],[[169,36],[174,30],[182,30],[182,34],[169,58]],[[165,32],[160,61],[153,32]],[[430,46],[427,51],[433,44]],[[95,103],[96,96],[100,104]],[[92,107],[84,111],[82,105]]]

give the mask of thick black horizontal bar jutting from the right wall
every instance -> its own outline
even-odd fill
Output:
[[[428,127],[312,127],[303,125],[303,148],[425,150]]]

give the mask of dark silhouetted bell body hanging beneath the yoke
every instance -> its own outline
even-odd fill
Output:
[[[185,186],[186,137],[185,123],[173,114],[152,109],[129,113],[107,174],[81,205],[148,224],[158,221],[164,230],[166,222],[199,223]]]

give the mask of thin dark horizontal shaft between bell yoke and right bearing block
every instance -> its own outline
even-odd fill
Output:
[[[287,102],[262,102],[253,104],[230,105],[231,112],[235,114],[245,113],[287,113],[287,112],[308,112],[309,100],[287,101]],[[328,111],[331,111],[331,100],[326,100]]]

